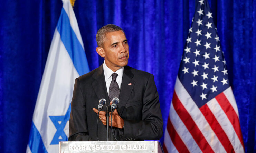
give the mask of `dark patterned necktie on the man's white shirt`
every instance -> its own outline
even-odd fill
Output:
[[[118,86],[118,84],[115,80],[117,75],[118,74],[116,74],[116,73],[112,74],[112,80],[111,80],[111,83],[110,83],[110,86],[109,86],[109,91],[108,91],[108,98],[109,98],[110,102],[112,101],[112,99],[114,97],[119,98],[120,90],[119,90],[119,86]]]

